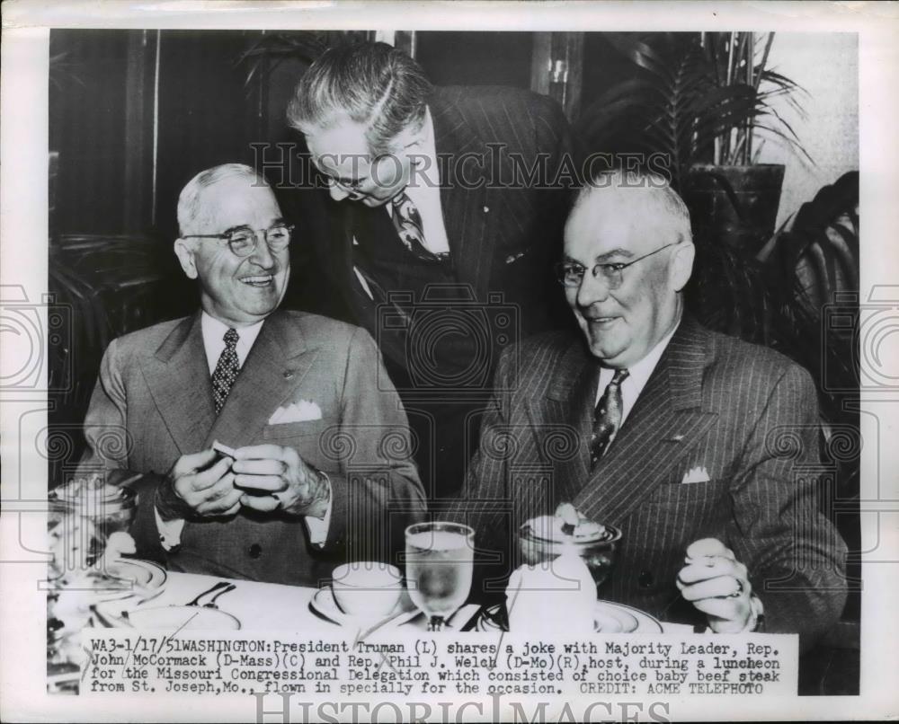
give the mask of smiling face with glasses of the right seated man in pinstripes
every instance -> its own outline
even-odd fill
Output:
[[[681,288],[690,278],[693,246],[672,229],[646,189],[594,189],[579,199],[565,224],[565,262],[587,270],[579,287],[565,287],[592,354],[624,368],[643,359],[681,316]],[[625,263],[680,241],[621,271],[610,289],[596,264]]]

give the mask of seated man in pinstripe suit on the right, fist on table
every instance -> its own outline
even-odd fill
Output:
[[[558,266],[581,334],[501,359],[507,392],[465,508],[479,546],[511,552],[524,521],[573,504],[623,533],[601,597],[807,646],[846,590],[845,546],[815,505],[814,384],[684,313],[693,254],[687,209],[661,178],[610,172],[582,190]]]

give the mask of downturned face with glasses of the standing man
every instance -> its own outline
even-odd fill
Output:
[[[310,128],[306,142],[312,161],[331,183],[331,198],[378,207],[404,190],[412,175],[414,139],[397,138],[394,154],[371,155],[365,127],[351,120],[334,128]]]

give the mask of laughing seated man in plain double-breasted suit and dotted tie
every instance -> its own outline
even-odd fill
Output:
[[[132,534],[170,569],[317,585],[335,561],[386,561],[423,490],[369,334],[278,311],[291,228],[253,169],[195,176],[178,223],[201,310],[111,343],[80,474],[147,473]]]

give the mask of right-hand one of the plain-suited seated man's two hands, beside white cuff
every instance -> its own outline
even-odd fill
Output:
[[[237,488],[251,490],[240,499],[264,513],[324,517],[331,490],[324,473],[303,462],[292,447],[256,445],[235,450],[232,470]]]

